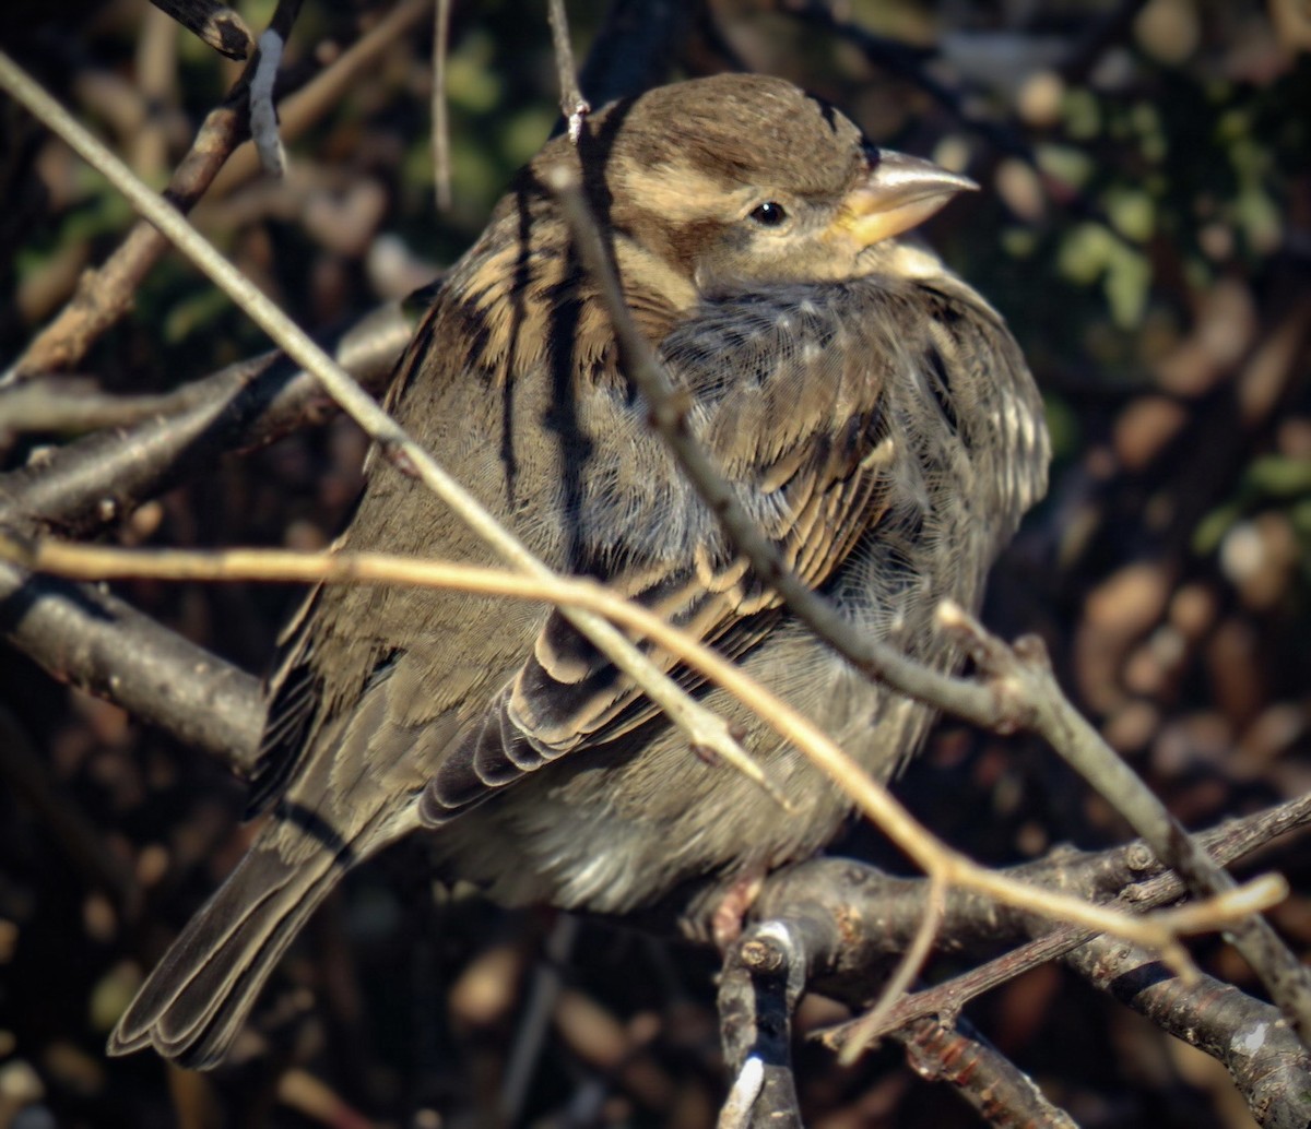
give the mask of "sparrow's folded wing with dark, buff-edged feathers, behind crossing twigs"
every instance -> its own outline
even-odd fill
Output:
[[[885,297],[872,282],[724,297],[661,346],[694,434],[812,587],[832,576],[888,504],[884,393],[907,355],[894,341],[893,308],[880,309]],[[573,500],[573,571],[729,656],[750,650],[777,621],[779,597],[729,546],[645,407],[621,379],[608,388],[594,380],[576,411],[589,434],[586,479],[602,485]],[[684,689],[703,681],[665,652],[650,657]],[[446,823],[543,764],[615,741],[656,709],[552,612],[523,665],[442,757],[421,817]]]

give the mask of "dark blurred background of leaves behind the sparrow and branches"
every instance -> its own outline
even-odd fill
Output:
[[[257,30],[273,9],[236,7]],[[283,89],[313,89],[405,7],[307,4]],[[579,58],[606,8],[569,4]],[[878,143],[983,186],[926,233],[1006,316],[1046,396],[1055,443],[1050,496],[996,570],[986,618],[1003,634],[1046,639],[1075,701],[1189,826],[1306,792],[1306,0],[646,9],[637,18],[676,25],[670,77],[750,69],[792,79]],[[557,119],[545,5],[456,4],[451,203],[439,212],[433,17],[417,3],[401,14],[367,69],[302,107],[284,181],[239,153],[193,213],[309,329],[349,322],[438,275]],[[240,73],[146,0],[10,3],[0,45],[156,186]],[[606,62],[602,52],[587,72],[598,83],[610,81]],[[595,97],[586,77],[583,93]],[[0,200],[8,367],[132,216],[8,101]],[[98,392],[166,393],[266,347],[225,297],[166,254],[73,373]],[[0,472],[76,437],[7,427],[0,406]],[[321,547],[355,494],[363,453],[354,426],[332,419],[223,460],[106,537]],[[115,591],[256,673],[298,596],[277,585]],[[105,1060],[105,1035],[144,971],[249,840],[243,787],[3,646],[0,745],[10,749],[0,756],[0,1129],[713,1124],[711,956],[585,923],[557,959],[545,951],[560,936],[549,914],[507,916],[468,892],[434,889],[420,843],[353,876],[316,918],[233,1067],[202,1078],[148,1054]],[[55,798],[59,819],[33,788]],[[950,722],[899,792],[949,842],[996,864],[1127,834],[1047,749]],[[880,857],[868,830],[848,849]],[[1298,891],[1273,917],[1304,951],[1311,859],[1294,846],[1262,866],[1282,868]],[[1252,988],[1219,942],[1197,952],[1214,974]],[[561,985],[534,1035],[524,1015],[544,971]],[[944,961],[932,974],[950,971]],[[804,1024],[840,1014],[812,1001]],[[1255,1124],[1222,1067],[1061,968],[1030,973],[969,1014],[1080,1125]],[[806,1049],[798,1077],[817,1129],[978,1124],[895,1050],[839,1069]]]

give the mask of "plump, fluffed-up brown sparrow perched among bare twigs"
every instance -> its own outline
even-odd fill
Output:
[[[1042,407],[1000,317],[898,238],[964,177],[878,149],[777,79],[650,90],[549,141],[450,271],[389,394],[399,420],[553,567],[604,580],[739,661],[881,779],[931,720],[853,672],[733,550],[620,368],[544,187],[576,169],[627,304],[690,423],[806,583],[937,668],[932,623],[977,608],[1044,492]],[[375,461],[342,544],[496,563]],[[216,1064],[346,870],[431,829],[448,872],[507,904],[625,913],[805,858],[850,811],[718,688],[654,655],[746,733],[791,799],[708,764],[558,612],[324,587],[271,680],[256,802],[271,817],[151,974],[110,1053]]]

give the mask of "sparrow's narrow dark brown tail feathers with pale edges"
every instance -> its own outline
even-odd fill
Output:
[[[138,991],[108,1052],[153,1045],[182,1066],[218,1065],[278,959],[346,868],[343,854],[321,843],[287,862],[275,836],[257,840]]]

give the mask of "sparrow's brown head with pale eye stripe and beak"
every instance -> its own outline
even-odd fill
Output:
[[[581,165],[616,259],[659,259],[700,295],[753,283],[840,282],[884,268],[878,249],[975,185],[871,144],[781,79],[717,75],[612,103],[578,145],[530,166]],[[645,272],[653,272],[644,266]]]

